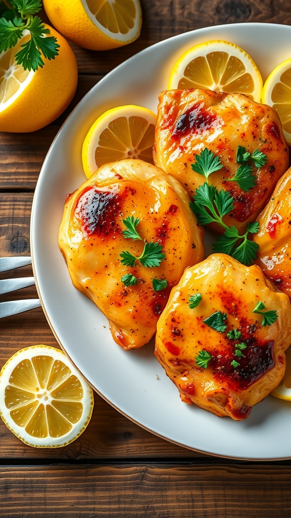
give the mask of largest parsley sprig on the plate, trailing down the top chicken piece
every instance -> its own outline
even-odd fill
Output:
[[[217,156],[205,148],[201,154],[196,155],[196,162],[192,164],[193,170],[203,175],[206,182],[196,189],[196,193],[190,207],[196,214],[197,221],[201,225],[217,223],[224,229],[224,234],[213,244],[214,252],[222,252],[231,255],[246,266],[255,260],[258,252],[258,244],[248,239],[249,233],[256,234],[259,229],[257,222],[248,223],[246,232],[239,234],[236,226],[229,227],[223,221],[223,217],[234,209],[234,197],[224,189],[218,190],[208,183],[209,175],[221,169],[222,165]]]

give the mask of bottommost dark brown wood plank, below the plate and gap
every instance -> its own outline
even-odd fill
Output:
[[[291,515],[290,466],[3,466],[0,477],[0,505],[5,518]]]

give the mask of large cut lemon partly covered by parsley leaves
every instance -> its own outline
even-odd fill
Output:
[[[68,42],[46,25],[49,36],[60,45],[54,59],[43,59],[43,67],[24,70],[15,55],[31,39],[24,35],[17,44],[0,53],[0,131],[32,132],[50,124],[63,113],[77,88],[78,67]]]

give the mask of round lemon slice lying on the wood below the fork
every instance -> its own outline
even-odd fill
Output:
[[[60,349],[37,345],[11,356],[0,373],[0,415],[19,439],[57,448],[79,437],[93,411],[93,391]]]

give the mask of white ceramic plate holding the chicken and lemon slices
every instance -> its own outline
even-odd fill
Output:
[[[85,95],[54,139],[35,191],[31,244],[42,307],[61,347],[95,390],[152,433],[186,448],[243,459],[291,458],[291,405],[267,397],[242,422],[218,418],[180,400],[178,390],[153,356],[153,343],[123,351],[106,318],[71,284],[57,235],[65,197],[84,180],[81,147],[105,110],[137,104],[156,111],[158,93],[186,49],[226,39],[248,52],[263,79],[290,57],[291,27],[244,23],[202,28],[143,50],[115,68]]]

